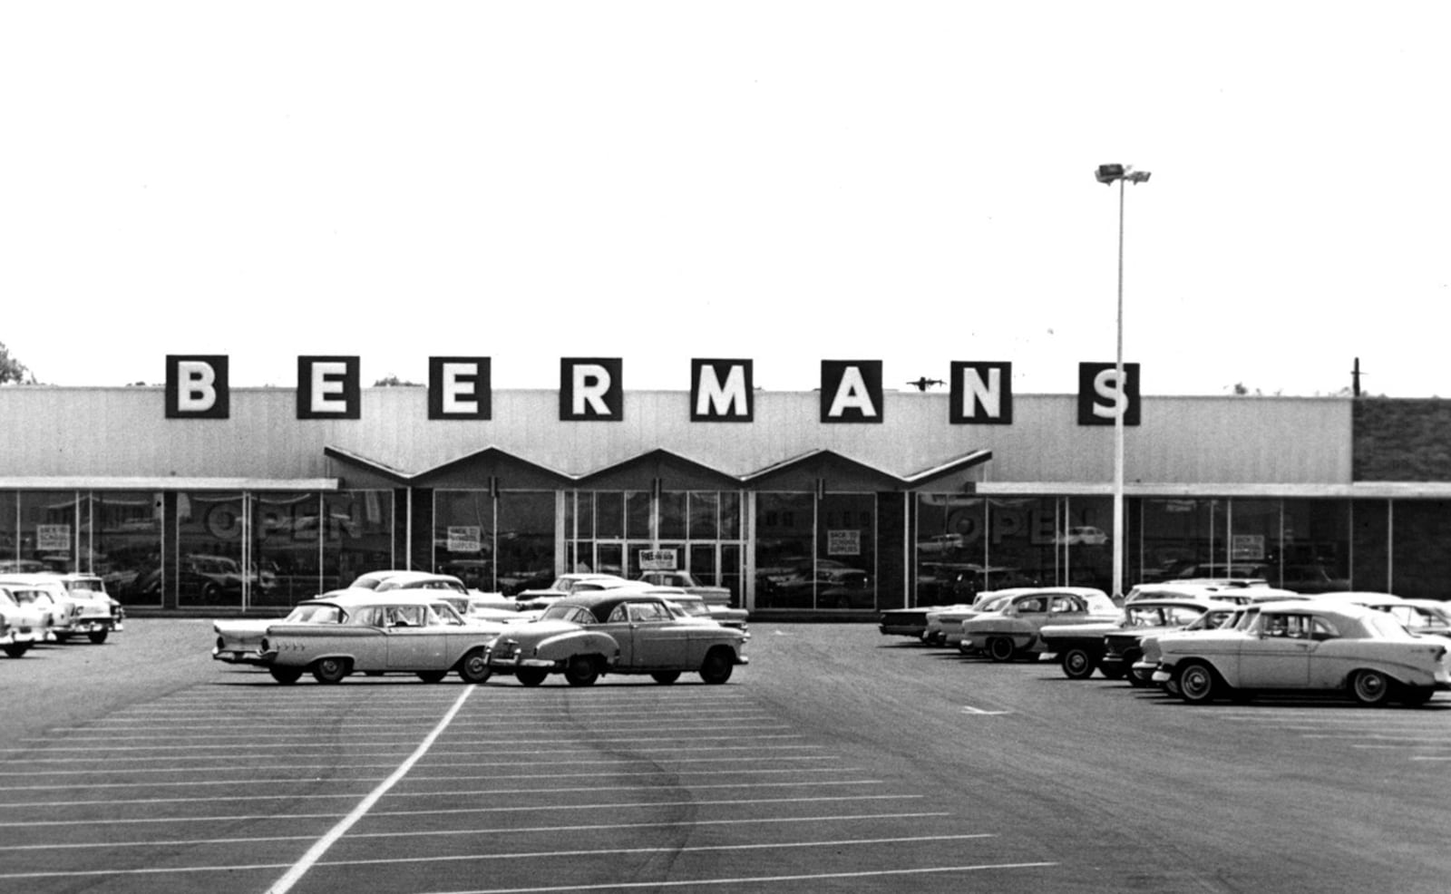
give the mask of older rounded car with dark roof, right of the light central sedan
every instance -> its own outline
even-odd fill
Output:
[[[488,666],[537,686],[563,673],[588,686],[604,673],[649,673],[673,684],[682,672],[724,684],[747,663],[750,634],[714,621],[683,618],[666,599],[627,588],[563,596],[531,624],[511,627],[489,647]]]

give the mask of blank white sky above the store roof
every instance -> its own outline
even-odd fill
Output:
[[[41,382],[229,354],[493,386],[749,357],[888,387],[1451,396],[1451,4],[0,6],[0,343]]]

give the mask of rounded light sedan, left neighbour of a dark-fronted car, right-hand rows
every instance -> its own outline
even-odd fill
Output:
[[[987,611],[962,623],[962,641],[958,647],[965,653],[982,652],[995,662],[1043,652],[1045,627],[1111,621],[1119,617],[1119,607],[1113,599],[1091,586],[1030,589],[984,608]]]

